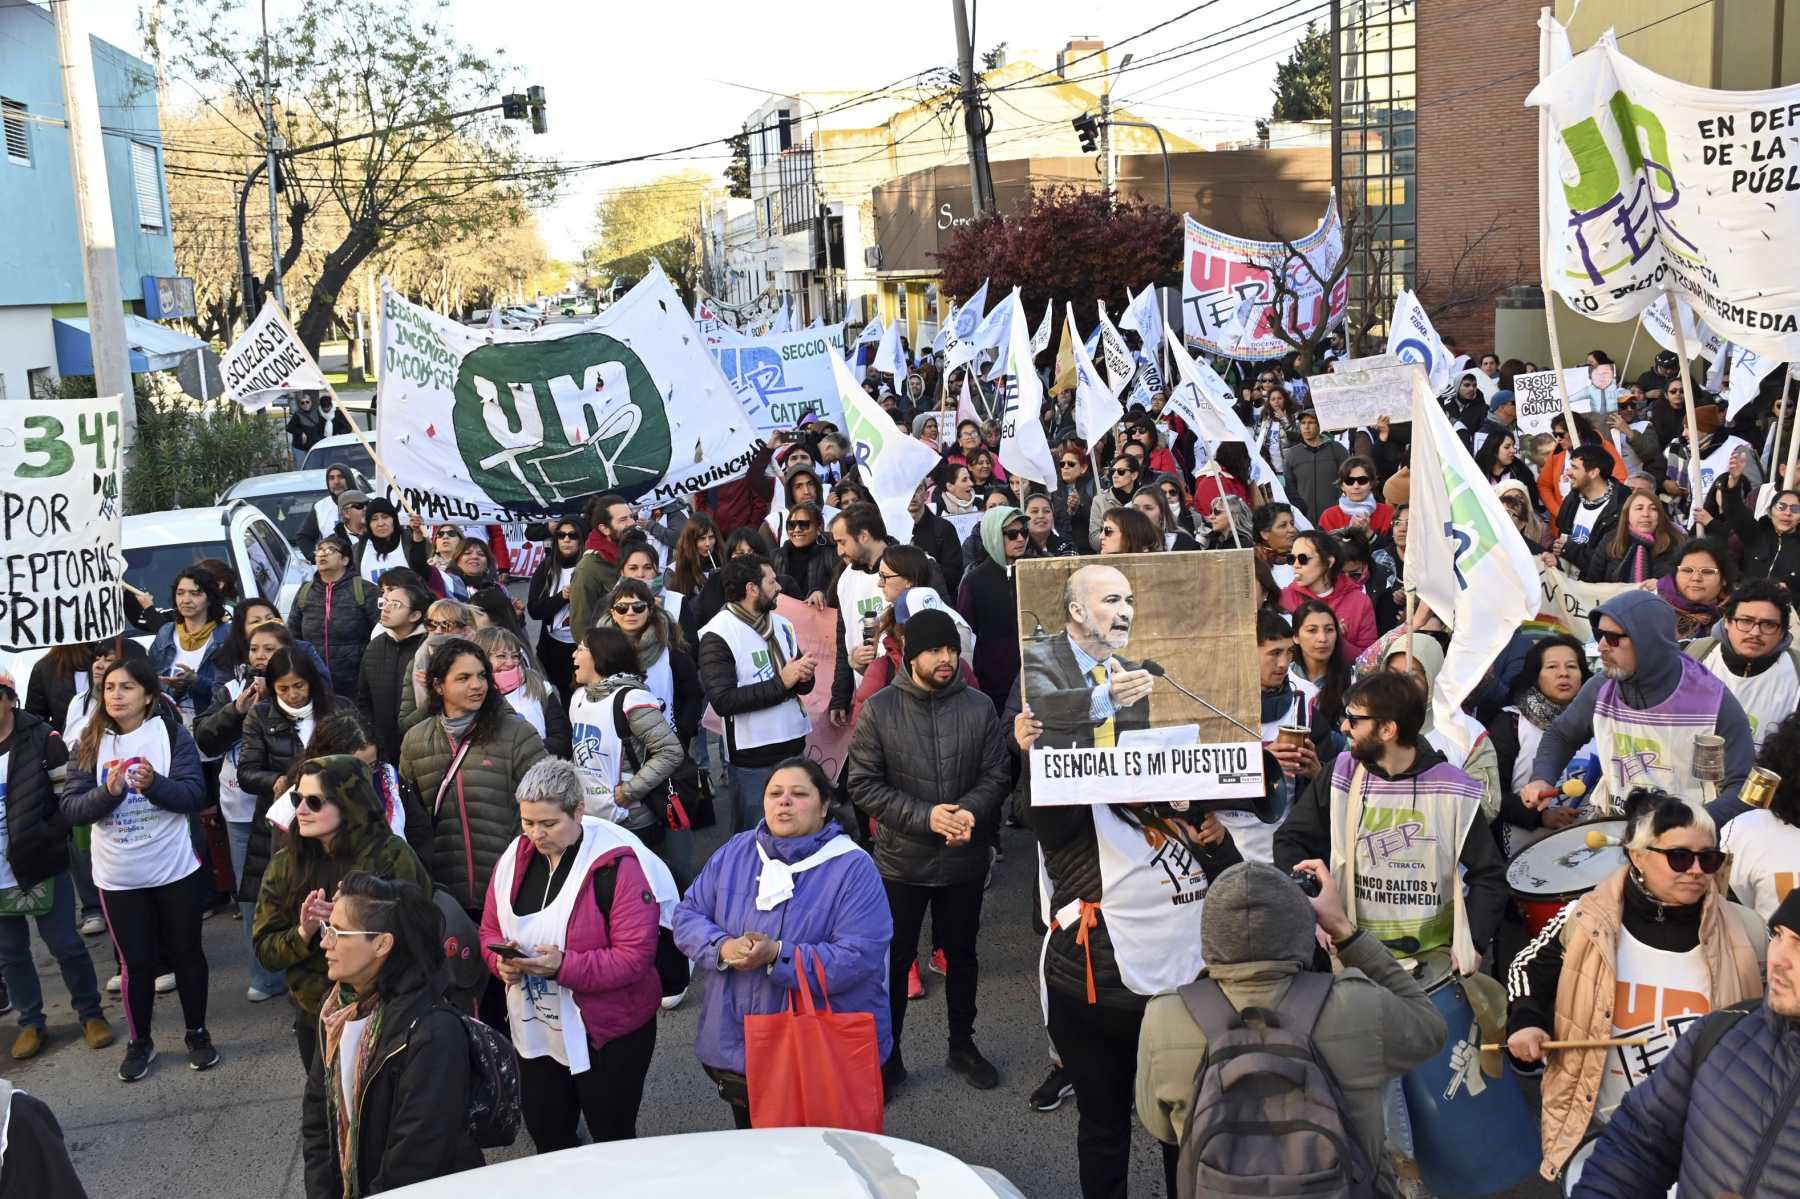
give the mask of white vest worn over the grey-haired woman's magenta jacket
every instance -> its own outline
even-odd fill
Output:
[[[518,846],[508,846],[493,866],[493,907],[500,918],[500,933],[526,952],[535,952],[536,945],[567,949],[569,918],[574,916],[574,906],[589,893],[587,873],[605,850],[599,821],[583,819],[581,844],[565,850],[576,859],[562,891],[542,911],[520,916],[513,913],[513,871],[518,862]],[[571,1075],[587,1071],[587,1024],[581,1021],[574,992],[567,987],[551,978],[526,974],[506,988],[506,1015],[513,1028],[513,1048],[518,1050],[518,1057],[556,1059],[569,1068]]]

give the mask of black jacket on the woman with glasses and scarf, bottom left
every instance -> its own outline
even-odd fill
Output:
[[[355,1192],[344,1186],[337,1118],[326,1100],[326,1069],[338,1062],[313,1055],[301,1100],[306,1199],[373,1195],[484,1165],[463,1125],[470,1087],[463,1017],[439,1006],[432,990],[400,994],[383,1006],[356,1109]]]

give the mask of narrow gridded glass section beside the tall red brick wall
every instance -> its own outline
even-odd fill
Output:
[[[1350,322],[1411,286],[1418,247],[1417,25],[1409,0],[1345,0],[1337,18],[1337,196],[1368,236],[1350,257]],[[1355,214],[1352,218],[1352,212]]]

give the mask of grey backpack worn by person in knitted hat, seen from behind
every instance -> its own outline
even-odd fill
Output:
[[[1330,974],[1301,970],[1273,1012],[1238,1012],[1210,978],[1177,992],[1206,1033],[1181,1136],[1181,1199],[1377,1194],[1343,1091],[1312,1046],[1330,990]]]

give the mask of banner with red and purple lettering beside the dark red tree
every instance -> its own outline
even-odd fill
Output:
[[[1273,275],[1285,277],[1287,315],[1283,328],[1314,342],[1343,324],[1350,297],[1348,275],[1339,277],[1327,295],[1323,279],[1332,277],[1345,252],[1345,230],[1337,221],[1337,196],[1325,207],[1319,227],[1292,243],[1291,254],[1280,241],[1251,241],[1208,229],[1186,218],[1184,270],[1181,275],[1183,337],[1190,349],[1226,358],[1278,358],[1292,349],[1271,328],[1276,299]],[[1238,315],[1242,311],[1242,329]]]

